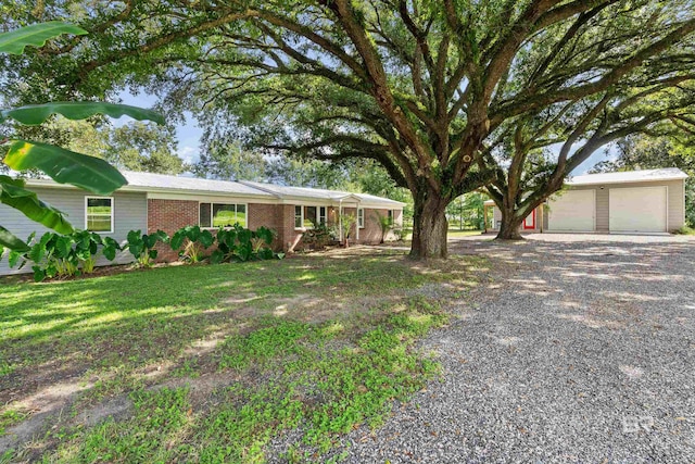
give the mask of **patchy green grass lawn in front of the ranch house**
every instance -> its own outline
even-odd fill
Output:
[[[415,343],[483,266],[355,248],[0,284],[0,462],[340,460],[437,376]]]

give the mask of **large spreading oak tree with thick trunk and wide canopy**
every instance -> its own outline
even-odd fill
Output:
[[[498,153],[510,141],[539,148],[551,134],[591,147],[591,128],[620,105],[614,95],[687,83],[695,30],[688,0],[45,4],[42,14],[72,15],[90,34],[25,63],[33,87],[92,96],[144,85],[206,124],[252,128],[248,141],[270,151],[376,160],[413,193],[414,258],[446,255],[454,198],[514,183],[509,153]],[[555,126],[570,115],[581,130]],[[510,138],[515,127],[522,137]],[[551,173],[539,176],[542,195],[568,171]]]

